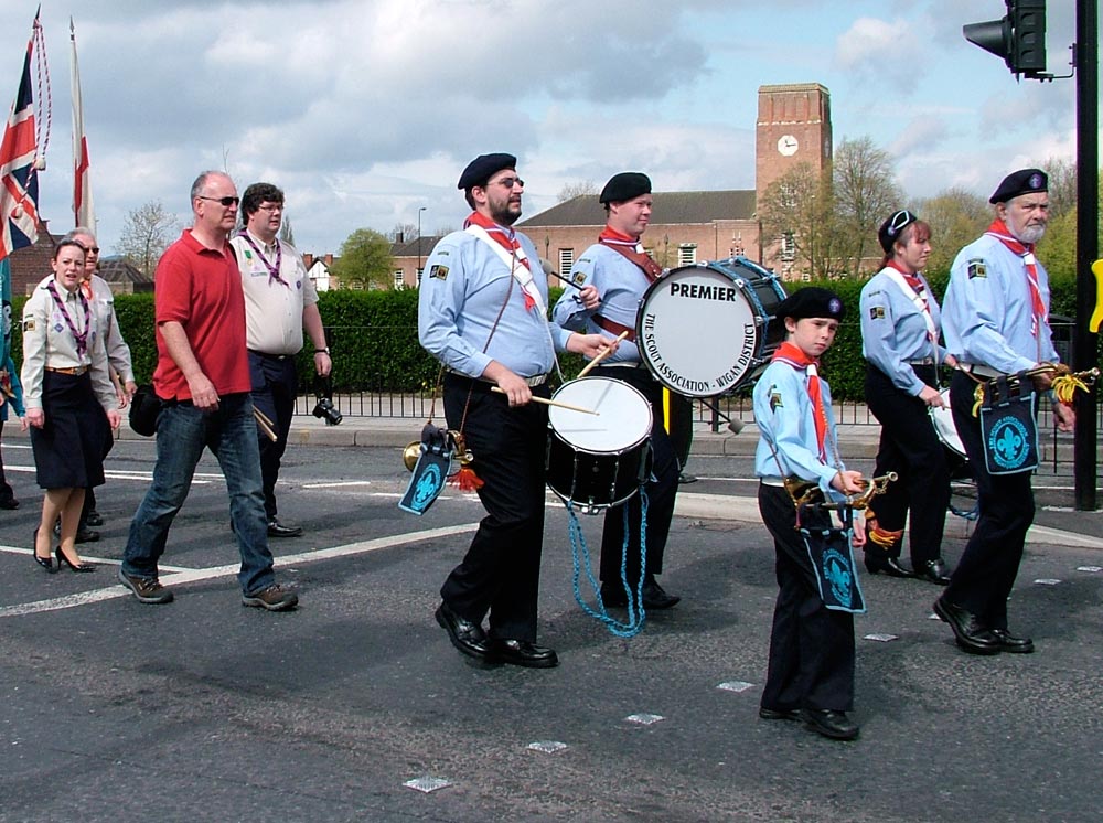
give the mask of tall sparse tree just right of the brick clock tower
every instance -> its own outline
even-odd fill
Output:
[[[900,207],[903,194],[892,177],[892,159],[868,137],[843,140],[832,160],[835,228],[843,233],[840,270],[858,274],[866,255],[880,257],[877,229]]]

